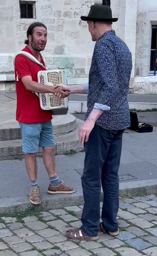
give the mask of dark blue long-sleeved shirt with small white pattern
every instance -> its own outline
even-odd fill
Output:
[[[95,44],[89,72],[86,118],[95,103],[110,107],[96,124],[107,130],[122,130],[130,126],[127,101],[132,70],[132,55],[127,45],[109,30]]]

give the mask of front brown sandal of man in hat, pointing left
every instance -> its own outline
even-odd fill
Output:
[[[66,231],[66,237],[70,239],[75,239],[75,240],[85,240],[85,241],[96,241],[99,239],[98,236],[96,237],[89,237],[87,236],[82,229],[69,229]]]

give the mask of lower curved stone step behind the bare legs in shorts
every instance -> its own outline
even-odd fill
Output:
[[[81,120],[77,121],[76,129],[68,134],[55,136],[56,155],[75,154],[83,151],[83,145],[79,143],[79,126]],[[24,157],[21,148],[21,140],[0,141],[0,160],[21,159]],[[39,149],[38,156],[42,155]]]

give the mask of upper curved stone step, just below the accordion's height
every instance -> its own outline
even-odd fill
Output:
[[[76,129],[76,118],[69,113],[61,116],[53,116],[52,125],[55,136],[68,134]],[[21,130],[18,122],[3,122],[0,124],[0,141],[20,139]]]

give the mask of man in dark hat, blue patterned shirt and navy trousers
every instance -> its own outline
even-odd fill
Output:
[[[84,208],[82,226],[66,232],[70,239],[98,240],[98,231],[119,234],[119,165],[122,136],[130,126],[127,93],[132,70],[132,56],[126,44],[112,30],[111,8],[93,5],[87,17],[92,40],[96,41],[89,72],[86,120],[79,130],[84,143],[82,175]],[[70,87],[71,93],[84,92],[82,85]],[[103,208],[100,223],[100,192]]]

